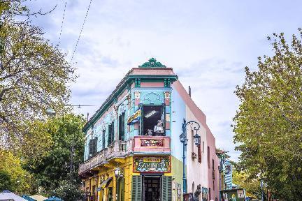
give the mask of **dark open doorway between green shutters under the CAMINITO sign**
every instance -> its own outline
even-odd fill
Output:
[[[143,200],[161,200],[161,177],[143,176]]]

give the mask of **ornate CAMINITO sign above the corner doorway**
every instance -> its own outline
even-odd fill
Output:
[[[134,172],[171,172],[171,158],[134,157]]]

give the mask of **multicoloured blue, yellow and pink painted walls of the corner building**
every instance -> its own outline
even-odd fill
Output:
[[[147,73],[145,69],[134,69],[133,73],[142,73],[150,75],[165,74],[168,70],[162,69],[150,69]],[[181,200],[180,193],[182,193],[182,143],[179,136],[182,132],[183,119],[187,121],[199,122],[201,128],[199,129],[199,135],[201,136],[201,163],[198,161],[198,157],[193,159],[191,154],[194,151],[198,154],[196,145],[192,146],[193,140],[191,130],[187,129],[187,158],[185,171],[187,175],[187,192],[194,193],[197,185],[201,184],[203,188],[211,188],[212,199],[219,198],[219,174],[218,174],[218,158],[215,154],[215,137],[210,132],[210,129],[206,125],[206,115],[195,105],[192,99],[187,94],[187,91],[182,87],[180,82],[174,82],[171,87],[164,87],[163,80],[141,80],[141,86],[130,84],[130,87],[126,87],[122,90],[120,95],[115,98],[115,102],[104,110],[103,114],[96,120],[93,126],[90,126],[86,132],[85,142],[85,161],[88,158],[89,152],[89,140],[98,137],[97,151],[101,151],[102,144],[102,131],[106,131],[106,147],[108,146],[108,124],[115,121],[115,140],[118,138],[118,120],[117,117],[125,113],[125,133],[124,140],[131,140],[134,136],[140,135],[140,123],[137,122],[131,126],[127,125],[127,119],[138,110],[140,104],[144,105],[161,105],[166,104],[166,136],[171,137],[171,173],[165,173],[165,176],[172,176],[172,191],[173,201]],[[135,87],[136,86],[136,87]],[[195,134],[195,133],[194,133]],[[203,147],[204,146],[204,147]],[[208,165],[208,149],[210,147],[210,165]],[[135,153],[134,153],[135,154]],[[147,152],[145,154],[148,154]],[[111,159],[110,159],[111,160]],[[213,180],[213,165],[214,160],[215,179]],[[108,165],[94,168],[99,170],[99,173],[85,180],[85,189],[87,186],[89,191],[92,191],[92,186],[99,186],[103,179],[113,177],[113,194],[115,194],[116,180],[114,177],[114,169],[119,166],[124,170],[124,200],[131,200],[131,177],[138,175],[139,173],[133,172],[133,157],[127,156],[124,159],[115,158],[109,161]],[[214,181],[214,186],[213,186]],[[194,183],[194,189],[192,184]],[[215,188],[215,191],[214,191]],[[106,195],[106,192],[103,192]],[[98,191],[99,197],[103,196],[101,191]],[[201,196],[200,196],[201,197]]]

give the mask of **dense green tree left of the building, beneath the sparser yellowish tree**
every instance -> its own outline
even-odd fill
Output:
[[[38,185],[43,187],[45,192],[62,188],[60,181],[63,180],[68,180],[70,185],[80,184],[78,166],[84,156],[85,138],[82,133],[84,124],[85,119],[74,114],[64,114],[35,124],[38,125],[36,129],[50,135],[50,147],[40,147],[43,153],[24,156],[24,168],[36,176]],[[38,132],[34,129],[32,131]],[[72,166],[71,154],[73,154]]]

